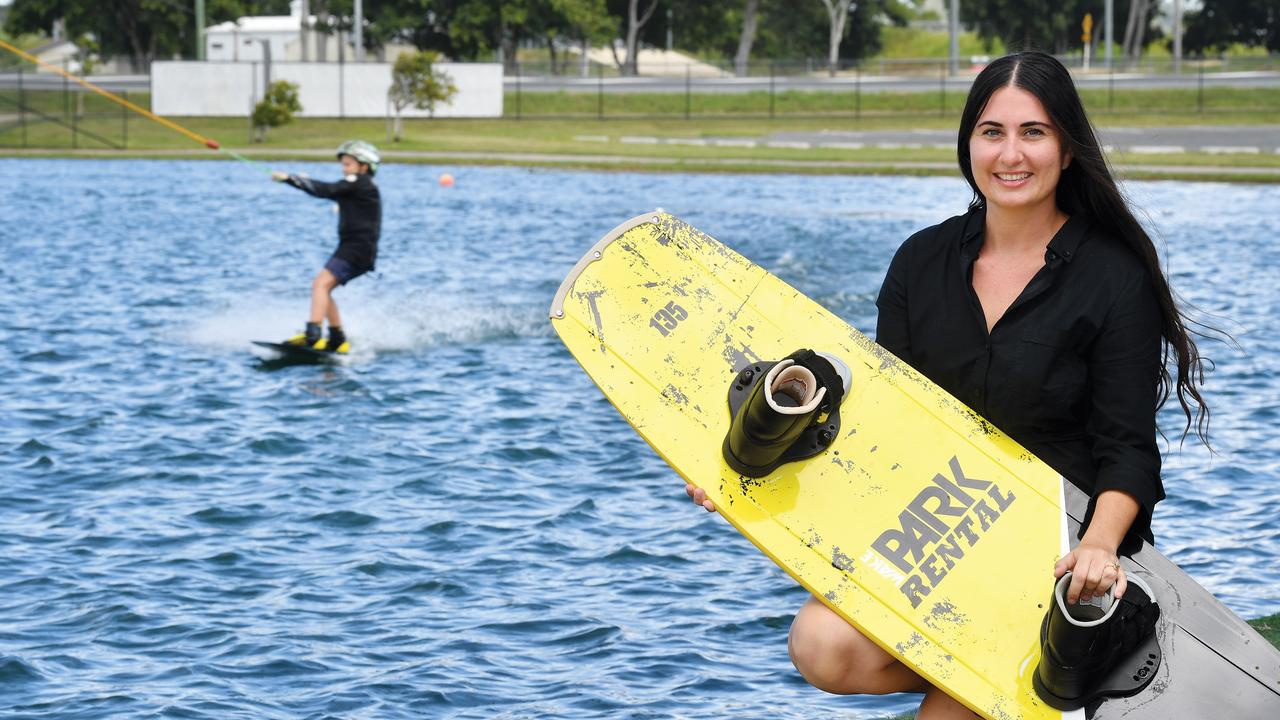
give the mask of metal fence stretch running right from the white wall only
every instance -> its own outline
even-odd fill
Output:
[[[987,59],[815,60],[640,65],[518,63],[506,78],[509,118],[919,117],[959,113]],[[1137,64],[1062,60],[1092,113],[1280,113],[1280,56]],[[585,72],[584,72],[585,70]]]

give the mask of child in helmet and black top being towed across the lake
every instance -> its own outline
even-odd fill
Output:
[[[319,182],[305,174],[280,172],[271,173],[271,179],[338,204],[338,249],[311,282],[311,316],[306,329],[284,342],[312,350],[348,352],[351,343],[342,331],[342,315],[332,293],[335,287],[374,269],[383,224],[381,196],[374,184],[374,174],[381,158],[372,145],[349,140],[338,147],[338,160],[343,174],[338,182]],[[321,333],[325,319],[329,320],[328,340]]]

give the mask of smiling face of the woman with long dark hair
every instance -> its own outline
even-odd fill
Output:
[[[988,208],[1052,206],[1071,158],[1057,127],[1034,95],[1016,86],[991,95],[969,136],[974,182]]]

